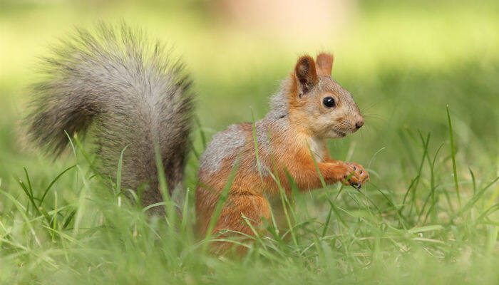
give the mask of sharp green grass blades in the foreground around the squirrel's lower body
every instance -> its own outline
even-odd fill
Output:
[[[448,127],[452,134],[451,120]],[[234,239],[234,244],[248,249],[242,259],[207,254],[207,242],[220,239],[195,237],[192,196],[178,205],[167,194],[168,214],[150,217],[140,203],[123,197],[120,171],[112,186],[98,178],[89,166],[91,157],[76,139],[76,153],[82,154],[76,155],[76,165],[61,171],[46,187],[35,189],[25,169],[19,178],[23,195],[0,190],[2,199],[11,204],[0,217],[0,280],[4,284],[494,284],[499,278],[494,219],[499,204],[492,192],[498,177],[470,181],[454,176],[465,193],[463,207],[456,207],[457,185],[446,182],[446,177],[456,174],[448,167],[449,160],[456,165],[453,147],[432,149],[430,138],[421,134],[419,142],[415,137],[406,145],[419,153],[421,165],[403,195],[368,183],[360,192],[324,185],[314,199],[297,193],[294,202],[283,197],[289,228],[279,230],[269,222],[267,234],[255,229],[249,240]],[[81,157],[83,161],[78,161]],[[60,199],[52,187],[71,175],[77,180],[76,199]],[[308,213],[307,205],[321,199],[328,202]],[[217,209],[225,199],[220,201]],[[182,222],[175,207],[182,211]]]

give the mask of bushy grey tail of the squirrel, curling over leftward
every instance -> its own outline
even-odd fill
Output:
[[[29,137],[60,155],[69,135],[91,130],[101,174],[115,177],[123,154],[123,188],[142,183],[143,203],[162,200],[155,145],[172,191],[182,180],[192,118],[190,79],[159,43],[125,24],[76,31],[43,60],[33,88]]]

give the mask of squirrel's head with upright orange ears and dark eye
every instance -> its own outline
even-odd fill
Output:
[[[331,78],[333,56],[320,53],[298,59],[287,90],[289,119],[305,133],[319,138],[343,138],[364,125],[351,94]]]

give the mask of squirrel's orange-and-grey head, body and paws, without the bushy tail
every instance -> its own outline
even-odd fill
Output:
[[[320,53],[316,61],[310,56],[298,59],[294,72],[272,96],[272,110],[254,124],[259,165],[252,123],[230,125],[213,137],[200,159],[198,172],[196,212],[201,235],[206,234],[213,210],[237,161],[227,202],[212,234],[229,229],[253,235],[242,219],[243,214],[254,227],[262,219],[269,220],[264,195],[279,195],[272,176],[280,177],[287,194],[291,192],[287,174],[299,190],[321,187],[317,167],[328,185],[341,182],[359,188],[369,180],[369,173],[361,165],[329,157],[327,138],[344,138],[364,125],[351,94],[331,78],[332,63],[333,56],[328,53]],[[225,252],[230,246],[222,242],[213,250]]]

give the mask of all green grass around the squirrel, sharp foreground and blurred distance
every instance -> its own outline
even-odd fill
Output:
[[[0,9],[1,284],[498,284],[497,4],[362,1],[351,35],[325,46],[366,125],[329,149],[364,165],[371,182],[277,197],[267,234],[233,241],[249,254],[232,259],[206,254],[207,239],[219,237],[193,232],[197,156],[216,131],[262,118],[276,81],[319,40],[242,35],[202,9],[149,2],[12,3]],[[119,168],[100,177],[78,138],[57,161],[19,147],[34,57],[94,10],[172,38],[197,83],[186,199],[174,206],[165,195],[156,206],[167,217],[125,198],[140,195],[121,189]]]

